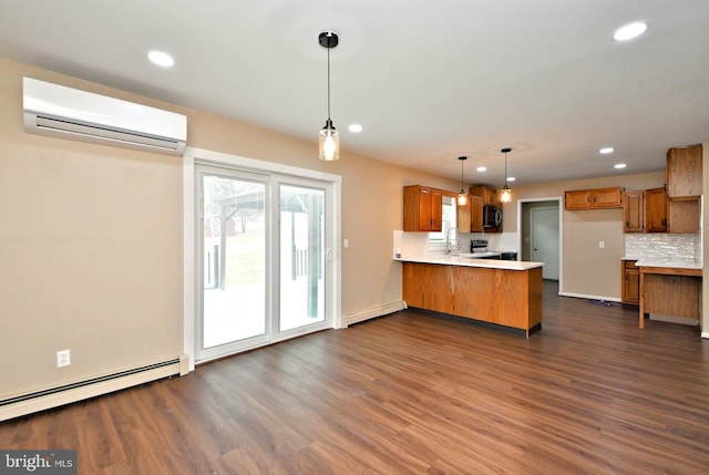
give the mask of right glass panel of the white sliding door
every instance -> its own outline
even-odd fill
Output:
[[[282,332],[325,320],[325,190],[280,185],[279,199]]]

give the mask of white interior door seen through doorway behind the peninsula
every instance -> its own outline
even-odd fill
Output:
[[[558,280],[558,208],[532,208],[530,210],[530,227],[532,229],[532,260],[544,262],[542,270],[544,279]]]

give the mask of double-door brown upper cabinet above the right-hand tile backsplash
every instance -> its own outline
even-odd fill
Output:
[[[667,233],[667,192],[627,192],[623,199],[625,233]]]

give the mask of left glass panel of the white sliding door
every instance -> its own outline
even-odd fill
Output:
[[[202,349],[266,334],[266,185],[202,175]]]

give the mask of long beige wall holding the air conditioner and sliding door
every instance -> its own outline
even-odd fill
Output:
[[[183,352],[182,158],[28,134],[22,76],[188,116],[188,144],[342,176],[342,313],[401,300],[401,186],[449,180],[0,60],[0,399]],[[319,127],[315,126],[315,132]],[[314,135],[315,137],[315,135]],[[55,352],[71,349],[58,369]]]

